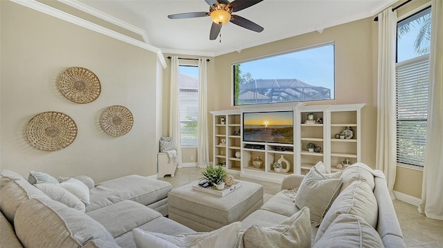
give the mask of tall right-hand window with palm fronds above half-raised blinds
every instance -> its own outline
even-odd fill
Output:
[[[397,163],[424,166],[431,8],[397,23]]]

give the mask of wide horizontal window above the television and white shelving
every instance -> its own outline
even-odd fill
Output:
[[[334,44],[233,64],[234,105],[334,99]]]

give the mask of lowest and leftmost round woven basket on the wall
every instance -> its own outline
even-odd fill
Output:
[[[72,144],[77,137],[77,125],[69,115],[48,111],[35,115],[26,128],[26,138],[42,151],[57,151]]]

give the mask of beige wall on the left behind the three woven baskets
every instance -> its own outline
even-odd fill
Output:
[[[156,173],[156,84],[161,78],[155,53],[112,39],[10,1],[1,6],[1,169],[27,176],[85,174],[96,182],[128,174]],[[75,104],[57,90],[65,68],[89,68],[100,79],[96,101]],[[132,131],[111,137],[98,118],[120,104],[134,115]],[[26,140],[29,120],[60,111],[78,126],[73,144],[39,151]]]

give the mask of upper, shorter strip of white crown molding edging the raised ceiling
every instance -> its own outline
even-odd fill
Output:
[[[87,6],[84,3],[81,3],[77,0],[58,0],[61,3],[64,3],[68,6],[71,6],[73,8],[76,8],[78,10],[82,10],[83,12],[88,13],[89,15],[93,15],[94,17],[98,17],[100,19],[103,19],[105,21],[108,21],[109,23],[113,23],[116,26],[120,26],[121,28],[125,28],[126,30],[135,32],[137,35],[140,35],[143,38],[143,41],[147,44],[151,44],[150,39],[147,37],[147,33],[145,30],[138,28],[132,24],[129,24],[125,21],[122,21],[120,19],[117,19],[116,17],[113,17],[111,15],[106,14],[105,12],[101,12],[100,10],[96,10],[95,8],[91,8]]]

